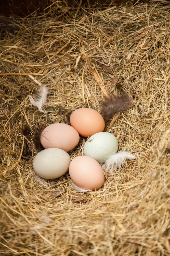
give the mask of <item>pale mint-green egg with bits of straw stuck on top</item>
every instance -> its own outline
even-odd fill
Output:
[[[105,162],[118,149],[116,137],[109,132],[98,132],[89,137],[84,144],[85,156],[93,157],[99,163]]]

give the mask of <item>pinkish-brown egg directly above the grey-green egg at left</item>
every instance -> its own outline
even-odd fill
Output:
[[[66,152],[72,150],[79,140],[79,133],[71,125],[62,123],[48,125],[40,136],[44,148],[61,148]]]

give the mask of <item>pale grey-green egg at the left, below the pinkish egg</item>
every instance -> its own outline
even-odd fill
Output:
[[[56,179],[69,169],[71,158],[60,148],[47,148],[40,151],[33,160],[34,172],[44,179]]]

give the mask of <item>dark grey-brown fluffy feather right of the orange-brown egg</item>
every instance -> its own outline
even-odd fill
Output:
[[[125,111],[130,108],[133,105],[133,98],[126,93],[119,96],[111,95],[109,98],[105,97],[100,105],[101,115],[110,117],[120,111]]]

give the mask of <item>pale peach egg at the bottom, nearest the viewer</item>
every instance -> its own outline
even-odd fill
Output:
[[[90,156],[77,156],[69,166],[73,182],[83,189],[94,190],[104,183],[104,172],[100,164]]]

